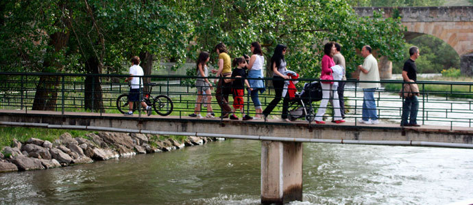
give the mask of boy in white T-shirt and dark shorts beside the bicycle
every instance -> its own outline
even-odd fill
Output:
[[[133,105],[134,102],[140,101],[140,93],[143,90],[143,79],[141,77],[134,77],[134,76],[143,76],[145,72],[143,72],[143,68],[139,66],[140,64],[140,57],[134,56],[132,57],[132,66],[130,67],[130,77],[125,79],[125,82],[130,81],[130,94],[128,94],[128,113],[125,113],[125,116],[132,116],[133,115]],[[151,115],[151,106],[146,105],[146,102],[143,100],[143,96],[141,96],[141,106],[146,108],[147,115]]]

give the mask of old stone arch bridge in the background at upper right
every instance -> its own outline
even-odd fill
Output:
[[[359,16],[373,16],[374,11],[382,12],[385,18],[400,16],[402,25],[407,27],[407,32],[404,33],[406,40],[424,34],[444,40],[460,56],[461,73],[473,75],[473,6],[370,7],[354,10]]]

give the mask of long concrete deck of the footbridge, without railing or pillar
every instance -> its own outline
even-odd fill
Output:
[[[0,110],[0,125],[45,126],[98,131],[195,135],[241,139],[363,143],[473,148],[473,128],[459,126],[400,127],[399,124],[308,124],[303,120],[220,120],[188,116],[123,116],[117,113]],[[23,124],[22,124],[23,123]],[[448,143],[446,145],[446,143]]]

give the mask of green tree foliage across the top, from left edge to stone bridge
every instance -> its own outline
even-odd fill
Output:
[[[348,70],[361,64],[357,49],[370,44],[389,59],[402,57],[403,28],[397,19],[359,18],[347,1],[213,0],[1,1],[2,71],[121,72],[123,61],[148,53],[154,59],[194,61],[219,42],[232,57],[259,41],[267,60],[277,44],[289,46],[289,68],[317,77],[327,41],[343,45]],[[63,47],[51,43],[62,33]],[[216,55],[212,53],[213,64]],[[54,61],[48,68],[44,62]],[[19,66],[12,66],[19,65]],[[90,69],[93,65],[94,69]],[[97,67],[97,68],[95,68]],[[52,68],[52,69],[49,69]]]

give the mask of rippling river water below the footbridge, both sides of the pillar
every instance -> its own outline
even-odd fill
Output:
[[[304,143],[291,204],[448,204],[473,198],[473,150]],[[260,141],[227,140],[0,174],[0,204],[259,204]]]

